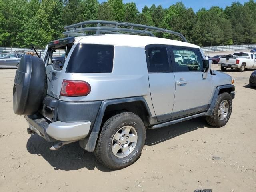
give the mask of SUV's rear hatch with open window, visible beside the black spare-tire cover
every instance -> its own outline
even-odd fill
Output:
[[[48,44],[42,56],[46,64],[47,96],[44,98],[40,113],[49,121],[57,120],[56,108],[62,87],[68,53],[74,44],[74,37],[54,40]]]

